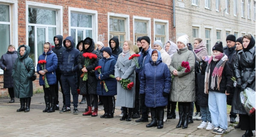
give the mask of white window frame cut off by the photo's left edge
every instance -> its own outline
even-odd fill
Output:
[[[0,0],[0,4],[9,5],[9,22],[1,22],[0,24],[8,24],[10,25],[10,44],[15,46],[17,50],[18,45],[18,0]],[[8,45],[5,45],[6,49]],[[2,49],[3,50],[3,49]],[[0,69],[0,75],[2,75],[4,71]]]

